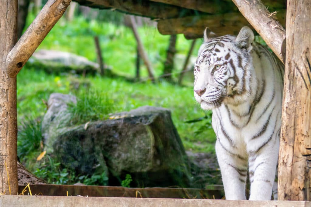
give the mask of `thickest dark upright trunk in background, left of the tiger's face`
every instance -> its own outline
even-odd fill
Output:
[[[176,53],[176,39],[177,35],[173,34],[169,38],[169,47],[166,51],[166,61],[164,63],[163,77],[167,81],[172,81],[172,71],[174,68],[174,56]]]

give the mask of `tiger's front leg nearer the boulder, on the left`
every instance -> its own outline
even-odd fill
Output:
[[[226,200],[246,200],[247,160],[232,156],[218,139],[215,148]]]

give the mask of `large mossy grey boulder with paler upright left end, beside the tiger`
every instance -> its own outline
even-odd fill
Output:
[[[140,187],[188,186],[190,166],[169,110],[143,106],[107,120],[64,126],[70,101],[76,98],[51,94],[42,122],[46,150],[64,166],[78,174],[109,172],[109,185],[119,185],[129,173]]]

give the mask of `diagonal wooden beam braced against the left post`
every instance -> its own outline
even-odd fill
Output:
[[[71,0],[49,0],[38,16],[21,36],[7,55],[7,68],[10,77],[16,77],[30,56],[63,16]]]

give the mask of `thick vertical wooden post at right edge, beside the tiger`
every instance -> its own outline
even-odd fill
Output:
[[[288,0],[279,200],[311,201],[311,1]]]

